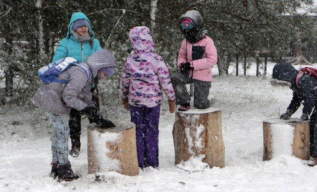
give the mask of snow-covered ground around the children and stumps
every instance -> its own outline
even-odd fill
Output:
[[[271,87],[273,65],[268,63],[266,78],[255,77],[255,65],[248,69],[247,76],[240,77],[235,76],[233,67],[229,70],[232,75],[227,77],[217,76],[216,66],[213,68],[209,98],[212,107],[221,109],[224,168],[206,168],[198,158],[175,167],[174,114],[168,113],[165,102],[159,125],[159,168],[140,170],[138,176],[105,172],[98,173],[96,179],[94,174],[88,174],[88,121],[84,121],[81,153],[77,158],[69,157],[74,172],[82,178],[58,183],[49,177],[52,129],[47,128],[45,113],[12,108],[0,116],[0,191],[317,192],[317,167],[304,165],[304,160],[286,154],[262,160],[263,121],[277,118],[292,97],[288,88]],[[301,109],[293,117],[299,118]],[[129,113],[122,110],[116,120],[129,118]]]

